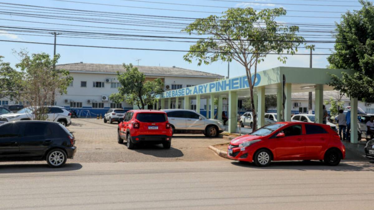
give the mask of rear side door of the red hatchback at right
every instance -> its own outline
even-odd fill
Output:
[[[305,156],[307,159],[316,160],[325,151],[329,141],[328,132],[318,124],[304,124],[305,127]]]

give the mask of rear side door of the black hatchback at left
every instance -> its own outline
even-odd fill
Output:
[[[19,141],[19,153],[25,158],[41,158],[52,143],[52,131],[47,123],[29,121]]]

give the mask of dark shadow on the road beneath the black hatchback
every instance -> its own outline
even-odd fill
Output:
[[[47,164],[4,164],[0,165],[3,173],[66,172],[82,169],[79,163],[67,163],[61,168],[51,168]]]

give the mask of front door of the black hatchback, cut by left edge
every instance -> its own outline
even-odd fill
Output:
[[[0,159],[19,157],[21,130],[19,123],[9,123],[0,127]]]

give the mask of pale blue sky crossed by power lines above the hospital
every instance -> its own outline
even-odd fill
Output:
[[[83,3],[78,3],[83,2]],[[12,3],[6,4],[6,3]],[[87,4],[91,3],[91,4]],[[172,4],[163,4],[172,3]],[[43,7],[56,7],[64,9],[78,9],[78,10],[94,10],[100,12],[113,12],[113,13],[127,13],[126,17],[119,21],[106,21],[105,23],[75,21],[69,20],[68,17],[74,16],[81,18],[80,20],[89,19],[111,19],[110,16],[79,16],[74,13],[55,12],[60,14],[52,14],[53,11],[47,10],[32,10],[30,8],[42,7],[26,7],[14,4],[43,6]],[[102,5],[110,4],[110,5]],[[193,4],[177,5],[177,4]],[[306,4],[306,5],[295,5]],[[325,6],[318,6],[325,5]],[[22,7],[22,8],[15,8]],[[143,7],[143,8],[138,8]],[[331,37],[330,31],[334,30],[335,22],[340,21],[342,13],[348,10],[359,10],[361,4],[354,0],[0,0],[0,40],[11,41],[28,41],[28,42],[42,42],[53,43],[53,35],[48,34],[56,30],[64,31],[88,31],[95,30],[98,33],[119,33],[119,34],[135,34],[135,35],[156,35],[156,36],[178,36],[189,37],[190,35],[179,33],[180,27],[165,28],[163,24],[148,24],[143,25],[139,22],[139,18],[132,14],[137,15],[157,15],[157,16],[173,16],[184,18],[205,18],[209,15],[220,15],[221,12],[227,10],[229,7],[253,7],[255,9],[283,7],[288,10],[286,16],[276,19],[278,22],[297,23],[297,24],[315,24],[315,25],[328,25],[323,27],[301,27],[300,32],[304,34],[306,40],[329,40],[334,41]],[[48,8],[44,8],[48,9]],[[18,11],[15,11],[18,10]],[[21,10],[21,11],[19,11]],[[51,10],[51,9],[49,9]],[[178,11],[176,11],[178,10]],[[188,11],[181,11],[188,10]],[[291,11],[293,10],[293,11]],[[30,12],[31,11],[31,12]],[[301,11],[301,12],[300,12]],[[306,12],[311,11],[311,12]],[[49,12],[49,13],[37,13]],[[19,16],[17,14],[37,14],[37,16]],[[57,15],[58,19],[51,19],[45,15]],[[85,18],[85,19],[84,19]],[[63,20],[62,20],[63,19]],[[135,20],[137,19],[137,20]],[[116,19],[118,20],[118,19]],[[190,23],[192,19],[186,21],[175,21],[165,19],[151,19],[148,21],[172,21]],[[30,22],[22,22],[30,21]],[[43,22],[43,23],[35,23]],[[68,25],[79,26],[68,26]],[[143,25],[143,26],[141,26]],[[330,26],[331,25],[331,26]],[[86,27],[84,27],[86,26]],[[43,36],[38,34],[34,35],[21,35],[28,34],[25,32],[9,31],[10,28],[4,27],[18,27],[18,28],[43,28]],[[95,28],[101,27],[101,28]],[[106,27],[106,28],[105,28]],[[112,28],[112,29],[107,29]],[[113,29],[115,28],[115,29]],[[151,30],[139,31],[139,30]],[[162,32],[152,32],[154,30],[172,31],[176,34],[165,34]],[[309,30],[309,31],[308,31]],[[310,30],[315,30],[310,32]],[[179,34],[178,34],[179,33]],[[316,36],[317,35],[317,36]],[[322,35],[322,37],[319,37]],[[147,49],[174,49],[174,50],[188,50],[191,43],[185,42],[169,42],[169,41],[145,41],[145,40],[109,40],[104,38],[71,38],[62,33],[57,36],[58,44],[76,44],[76,45],[91,45],[91,46],[110,46],[110,47],[126,47],[126,48],[147,48]],[[196,35],[191,35],[196,36]],[[136,38],[135,38],[136,39]],[[154,39],[154,38],[148,38]],[[175,39],[178,40],[178,39]],[[316,43],[316,48],[333,48],[333,43]],[[0,55],[4,56],[3,61],[10,62],[12,67],[19,62],[18,56],[13,53],[13,50],[19,51],[27,49],[30,53],[45,52],[53,55],[53,45],[31,44],[31,43],[14,43],[0,41]],[[128,50],[128,49],[104,49],[104,48],[88,48],[88,47],[73,47],[73,46],[57,46],[56,52],[61,55],[59,64],[85,62],[85,63],[99,63],[99,64],[122,64],[132,63],[134,65],[145,66],[164,66],[164,67],[181,67],[191,70],[205,71],[215,74],[227,76],[227,62],[217,61],[209,65],[197,65],[193,61],[188,63],[184,61],[183,55],[185,52],[163,52],[163,51],[147,51],[147,50]],[[299,49],[298,53],[309,53],[307,49]],[[325,54],[331,53],[329,49],[316,49],[313,53]],[[266,70],[278,66],[287,67],[309,67],[309,55],[287,55],[288,59],[286,64],[278,61],[276,55],[269,55],[263,63],[258,66],[258,70]],[[312,65],[315,68],[325,68],[328,65],[327,55],[314,55]],[[230,63],[230,77],[245,75],[245,68],[239,63],[233,61]]]

